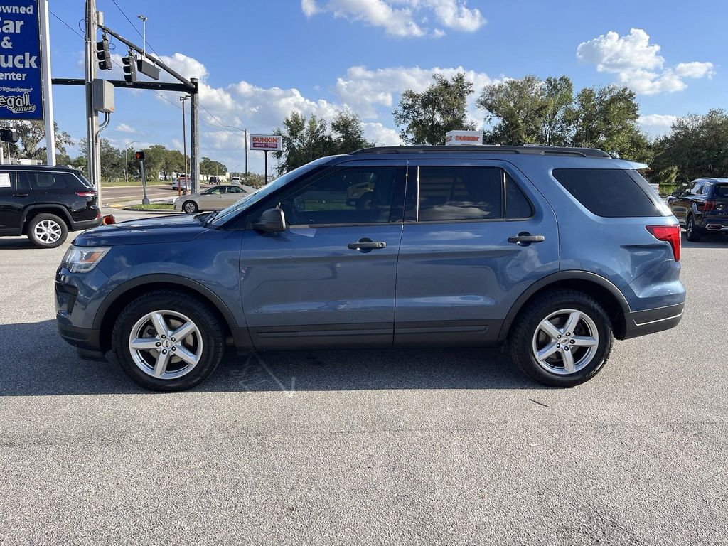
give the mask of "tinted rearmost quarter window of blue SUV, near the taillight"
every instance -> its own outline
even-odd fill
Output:
[[[640,186],[644,178],[639,173],[621,169],[554,169],[552,173],[566,191],[598,216],[662,216],[657,203]]]

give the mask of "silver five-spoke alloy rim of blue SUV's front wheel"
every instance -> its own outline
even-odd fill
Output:
[[[202,358],[202,335],[189,317],[169,310],[145,314],[133,326],[129,352],[137,367],[157,379],[177,379]]]

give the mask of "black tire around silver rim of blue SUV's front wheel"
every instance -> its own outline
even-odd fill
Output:
[[[198,333],[191,334],[195,343],[201,344],[199,347],[199,361],[189,372],[180,377],[171,379],[154,377],[149,371],[143,371],[135,361],[135,356],[132,356],[132,348],[130,347],[132,329],[146,314],[157,311],[181,314],[189,318],[199,331],[199,339],[197,339]],[[170,325],[170,330],[175,328],[173,319],[174,317],[166,315],[166,323]],[[167,341],[170,339],[174,341],[171,337]],[[178,340],[178,343],[179,341],[181,340]],[[225,336],[218,316],[205,302],[190,297],[189,294],[173,290],[160,290],[159,292],[140,296],[127,305],[114,324],[114,331],[111,333],[111,348],[119,365],[122,366],[127,375],[142,387],[164,392],[180,391],[195,387],[215,371],[225,352]],[[151,365],[155,357],[159,357],[159,350],[161,349],[144,350],[141,352],[141,357],[149,360]],[[155,351],[157,351],[156,356],[154,355]],[[137,352],[135,352],[136,354]],[[170,368],[184,366],[179,357],[177,357],[177,363],[173,362],[174,359],[173,353],[170,352]]]

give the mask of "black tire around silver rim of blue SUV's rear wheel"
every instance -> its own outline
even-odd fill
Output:
[[[534,340],[539,339],[537,336],[545,336],[545,333],[539,330],[539,324],[542,321],[550,317],[550,315],[566,309],[574,309],[585,314],[591,320],[594,327],[596,327],[596,333],[598,333],[598,338],[594,336],[593,339],[595,342],[598,341],[598,344],[595,345],[593,352],[588,352],[589,348],[587,347],[576,347],[574,349],[572,345],[563,344],[567,349],[559,349],[553,357],[550,357],[554,359],[554,365],[547,370],[545,365],[539,364],[536,355],[534,355],[534,344],[536,344]],[[554,320],[559,320],[559,316],[561,315],[557,315]],[[580,322],[577,328],[589,329],[590,326],[586,322]],[[582,336],[582,333],[574,331],[571,335]],[[564,333],[563,339],[569,340],[571,338],[566,338],[566,333]],[[598,301],[585,293],[575,290],[557,290],[540,296],[528,304],[526,309],[523,309],[517,322],[513,325],[510,335],[510,347],[515,363],[523,373],[526,373],[534,381],[550,387],[574,387],[596,376],[604,367],[606,360],[609,358],[609,353],[612,352],[612,340],[612,321],[609,320],[609,316],[607,316]],[[573,373],[566,373],[565,365],[563,368],[558,368],[563,351],[569,350],[569,347],[571,347],[572,358],[580,353],[590,355],[590,360],[585,359],[583,367]],[[559,371],[561,373],[557,373]]]

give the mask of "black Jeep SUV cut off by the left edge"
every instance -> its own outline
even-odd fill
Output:
[[[0,237],[27,235],[40,248],[55,248],[68,232],[100,223],[96,191],[79,171],[0,165]]]

